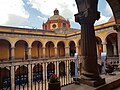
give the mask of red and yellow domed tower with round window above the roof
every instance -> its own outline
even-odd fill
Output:
[[[42,24],[42,27],[43,30],[55,30],[61,27],[70,28],[70,22],[59,15],[59,11],[55,9],[54,15],[48,18],[47,22]]]

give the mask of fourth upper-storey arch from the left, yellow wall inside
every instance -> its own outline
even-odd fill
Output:
[[[46,43],[46,45],[45,45],[45,56],[46,57],[49,57],[49,58],[51,58],[51,57],[55,57],[55,48],[54,48],[54,43],[52,42],[52,41],[48,41],[47,43]]]

